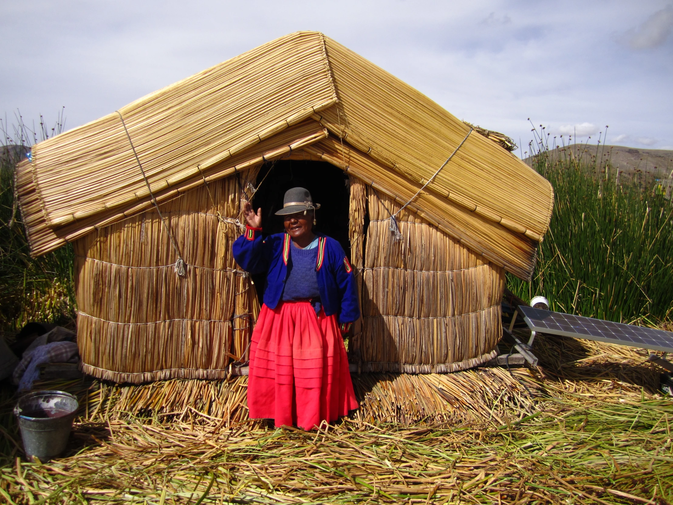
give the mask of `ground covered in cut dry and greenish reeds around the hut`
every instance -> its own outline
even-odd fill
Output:
[[[544,366],[513,377],[360,376],[360,411],[318,432],[244,420],[242,378],[96,382],[81,391],[63,459],[20,459],[5,416],[0,494],[14,504],[671,502],[673,403],[656,394],[658,370],[637,351],[589,341],[540,338],[536,352]],[[420,405],[413,395],[433,398],[433,383],[443,405]],[[182,402],[177,413],[149,408],[166,403],[162,391],[198,384],[228,396],[213,407],[192,389],[168,405]],[[224,416],[205,413],[222,405]]]

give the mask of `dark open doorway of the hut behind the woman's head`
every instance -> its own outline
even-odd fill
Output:
[[[320,203],[314,232],[338,240],[351,258],[348,238],[351,193],[346,172],[326,162],[279,160],[262,166],[256,186],[259,189],[252,199],[252,206],[254,209],[262,207],[264,233],[283,232],[283,220],[275,212],[283,208],[285,191],[294,187],[306,188],[311,192],[313,201]],[[253,278],[261,300],[263,276]]]

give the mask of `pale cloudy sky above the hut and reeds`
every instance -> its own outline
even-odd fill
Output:
[[[531,125],[673,149],[671,0],[0,0],[0,112],[67,129],[296,30],[320,30],[524,145]],[[3,119],[3,123],[5,119]]]

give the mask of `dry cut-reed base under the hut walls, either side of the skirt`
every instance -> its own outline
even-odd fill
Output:
[[[525,386],[523,384],[526,384]],[[353,376],[360,408],[353,419],[411,425],[490,422],[530,413],[540,389],[528,370],[480,368],[454,374],[362,374]],[[88,422],[143,417],[219,419],[221,426],[248,421],[248,378],[172,379],[149,384],[112,384],[98,380],[51,380],[40,389],[69,391],[79,398]],[[528,389],[526,389],[528,388]]]

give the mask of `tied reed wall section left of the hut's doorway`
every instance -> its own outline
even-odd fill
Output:
[[[246,360],[258,314],[232,257],[239,195],[257,169],[202,185],[160,205],[186,273],[155,209],[74,242],[84,371],[116,382],[223,378]]]

